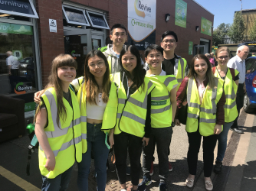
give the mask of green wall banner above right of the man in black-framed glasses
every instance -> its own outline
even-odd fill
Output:
[[[187,27],[187,3],[176,0],[175,24],[179,27]]]

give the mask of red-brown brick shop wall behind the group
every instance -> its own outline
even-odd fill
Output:
[[[127,0],[74,0],[74,3],[97,8],[107,12],[107,22],[110,28],[113,24],[120,23],[127,28]],[[174,24],[175,0],[158,0],[156,2],[156,44],[160,45],[161,35],[164,31],[175,31],[178,34],[178,47],[176,53],[184,57],[188,62],[192,59],[189,56],[189,41],[193,44],[200,44],[200,37],[211,40],[212,37],[195,31],[195,26],[201,27],[202,16],[213,22],[214,16],[205,11],[192,0],[184,0],[188,4],[187,27],[181,28]],[[37,0],[38,31],[41,54],[41,74],[43,86],[47,83],[51,72],[51,61],[60,53],[64,53],[64,31],[62,21],[61,0]],[[165,21],[165,15],[169,13],[169,21]],[[57,33],[50,33],[49,18],[57,20]],[[109,31],[108,31],[109,34]],[[141,51],[143,53],[143,51]]]

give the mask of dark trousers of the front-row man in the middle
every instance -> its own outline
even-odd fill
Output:
[[[152,128],[148,146],[143,148],[143,175],[149,177],[152,157],[157,148],[159,159],[159,178],[161,183],[165,183],[168,176],[168,151],[169,143],[172,139],[172,127]]]

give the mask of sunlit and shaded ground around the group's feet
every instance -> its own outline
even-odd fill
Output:
[[[223,160],[222,173],[216,175],[212,173],[212,182],[215,191],[254,191],[256,190],[256,118],[255,114],[250,115],[241,112],[238,120],[240,128],[244,128],[245,134],[236,134],[233,131],[228,133],[228,147]],[[41,190],[41,174],[38,169],[38,151],[31,158],[31,175],[26,175],[26,162],[28,157],[29,139],[28,136],[15,138],[11,141],[0,143],[0,191],[37,191]],[[202,148],[199,152],[199,162],[197,175],[195,176],[195,186],[189,189],[185,186],[185,179],[188,176],[188,165],[186,155],[189,143],[185,132],[185,125],[173,128],[171,154],[169,161],[173,170],[169,172],[168,190],[183,191],[205,190],[202,162]],[[215,150],[216,156],[217,150]],[[154,154],[154,174],[153,183],[147,190],[159,190],[159,170],[158,157]],[[143,173],[141,172],[141,175]],[[94,175],[94,160],[91,163],[91,173],[89,178],[89,190],[97,190]],[[141,176],[142,178],[142,176]],[[130,176],[127,176],[127,186],[130,186]],[[71,182],[67,190],[77,190],[77,164],[71,176]],[[113,163],[107,170],[107,191],[119,191],[120,184],[117,180],[117,173]]]

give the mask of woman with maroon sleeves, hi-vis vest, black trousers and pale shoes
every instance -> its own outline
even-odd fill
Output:
[[[188,115],[185,125],[189,138],[188,165],[189,176],[185,180],[187,186],[194,185],[198,154],[203,138],[203,160],[205,189],[212,190],[212,167],[214,149],[218,134],[224,125],[225,92],[223,80],[212,74],[212,65],[205,55],[197,54],[192,59],[189,75],[182,80],[177,92],[177,112],[186,100]],[[176,125],[179,120],[176,119]]]

